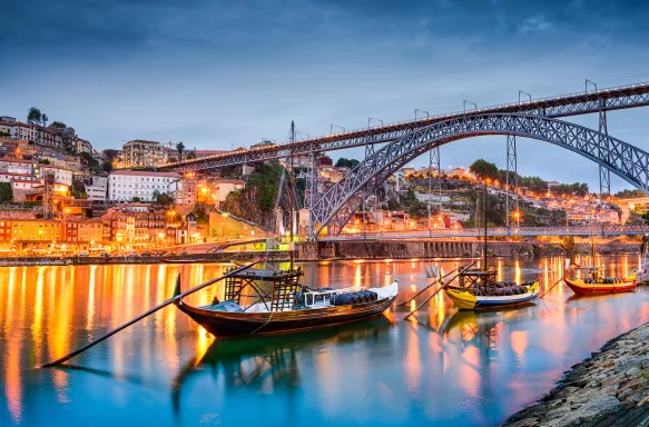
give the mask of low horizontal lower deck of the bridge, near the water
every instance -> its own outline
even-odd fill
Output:
[[[649,234],[649,226],[597,226],[597,227],[494,227],[486,231],[488,237],[557,237],[557,236],[637,236]],[[395,239],[443,239],[483,238],[482,228],[432,229],[416,231],[367,231],[327,235],[319,241],[342,240],[395,240]]]

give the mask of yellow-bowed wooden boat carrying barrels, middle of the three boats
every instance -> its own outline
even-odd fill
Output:
[[[444,291],[461,310],[485,310],[529,304],[539,294],[539,281],[518,285],[496,281],[495,270],[468,270],[460,275],[458,286]]]

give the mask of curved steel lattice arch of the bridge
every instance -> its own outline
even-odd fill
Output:
[[[486,135],[537,139],[573,151],[608,168],[649,196],[649,153],[583,126],[543,116],[474,113],[414,128],[364,159],[336,182],[311,210],[309,238],[324,227],[343,227],[362,205],[358,191],[382,185],[403,166],[436,146]]]

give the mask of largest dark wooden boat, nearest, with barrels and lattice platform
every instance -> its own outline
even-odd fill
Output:
[[[396,299],[399,281],[390,286],[318,290],[298,284],[302,270],[249,269],[226,279],[224,301],[176,306],[216,337],[295,331],[340,325],[383,314]],[[253,295],[244,295],[253,291]],[[240,305],[242,297],[253,299]]]

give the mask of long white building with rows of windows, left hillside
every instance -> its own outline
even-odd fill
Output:
[[[138,197],[141,201],[154,201],[155,191],[175,196],[180,188],[180,175],[176,172],[117,170],[108,177],[108,200],[129,201]]]

